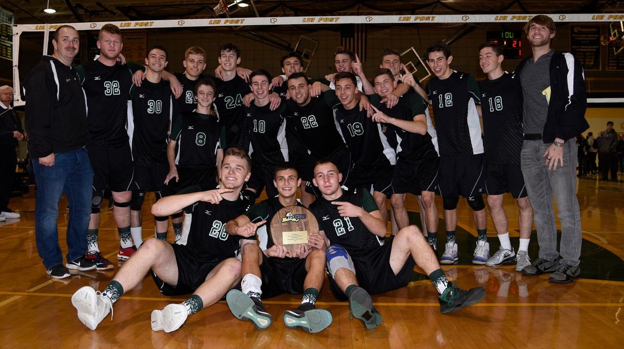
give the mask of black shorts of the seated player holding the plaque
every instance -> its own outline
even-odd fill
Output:
[[[299,258],[273,258],[262,254],[262,298],[281,294],[303,294],[303,282],[308,272],[306,260]]]

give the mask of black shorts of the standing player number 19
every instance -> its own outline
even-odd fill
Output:
[[[392,174],[394,166],[385,155],[380,155],[370,166],[353,164],[348,178],[344,178],[343,185],[347,188],[366,188],[379,191],[390,196],[392,193]]]

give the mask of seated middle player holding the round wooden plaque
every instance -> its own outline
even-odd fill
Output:
[[[308,244],[300,244],[293,252],[273,241],[271,224],[266,222],[271,222],[281,208],[303,206],[296,199],[301,178],[293,165],[279,165],[273,184],[278,196],[251,206],[246,213],[227,224],[230,235],[257,236],[260,242],[258,245],[255,241],[243,241],[242,292],[228,292],[228,306],[236,318],[248,320],[258,330],[264,330],[271,325],[273,317],[265,310],[261,295],[270,298],[285,293],[303,293],[301,305],[284,313],[284,323],[288,328],[321,332],[332,321],[330,312],[314,306],[323,287],[324,240],[319,234],[308,234]]]

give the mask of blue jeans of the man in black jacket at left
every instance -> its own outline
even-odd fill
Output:
[[[54,166],[43,166],[32,159],[37,178],[35,201],[35,237],[37,251],[46,269],[62,264],[59,246],[59,201],[63,193],[69,204],[67,221],[67,261],[87,251],[87,228],[91,214],[93,170],[85,148],[65,151],[54,156]]]

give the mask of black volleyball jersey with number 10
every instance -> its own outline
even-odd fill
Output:
[[[250,107],[243,107],[243,110],[250,135],[251,160],[262,165],[278,165],[288,161],[284,117],[286,105],[271,110],[270,103],[258,107],[252,102]]]

